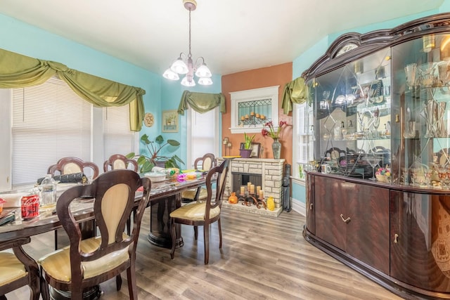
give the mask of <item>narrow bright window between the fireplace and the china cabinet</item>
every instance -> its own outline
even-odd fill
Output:
[[[295,133],[293,135],[293,152],[295,162],[293,176],[295,178],[304,178],[304,167],[314,156],[314,126],[313,111],[306,102],[303,104],[295,104],[293,110],[293,122]]]

